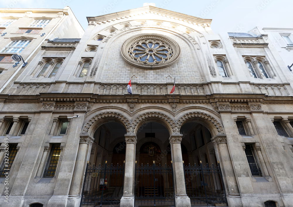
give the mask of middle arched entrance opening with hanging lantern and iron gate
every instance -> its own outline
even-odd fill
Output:
[[[169,137],[166,127],[157,122],[144,122],[137,132],[135,206],[174,205]]]

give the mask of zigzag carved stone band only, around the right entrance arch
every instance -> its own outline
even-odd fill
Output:
[[[218,131],[218,134],[224,134],[224,130],[223,130],[223,127],[222,125],[212,116],[206,114],[206,113],[198,113],[198,112],[192,112],[192,113],[187,113],[187,114],[184,114],[182,117],[180,117],[180,119],[178,119],[177,123],[176,123],[176,129],[178,131],[176,132],[180,132],[180,128],[183,124],[183,122],[185,122],[185,120],[189,119],[189,118],[193,118],[193,117],[199,117],[199,118],[203,118],[203,119],[206,119],[206,120],[209,120],[216,128],[217,128],[217,131]]]

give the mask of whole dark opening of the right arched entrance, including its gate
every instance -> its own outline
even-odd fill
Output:
[[[186,193],[191,205],[226,205],[222,173],[209,129],[192,121],[184,123],[180,133],[183,134],[182,143],[187,143],[188,146],[188,162],[184,161],[183,166]]]

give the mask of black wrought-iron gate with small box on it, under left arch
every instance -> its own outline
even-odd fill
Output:
[[[92,206],[119,205],[123,194],[124,164],[86,165],[81,203]]]

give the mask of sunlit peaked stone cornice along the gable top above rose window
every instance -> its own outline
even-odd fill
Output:
[[[126,11],[110,13],[110,14],[106,14],[106,15],[102,15],[102,16],[86,17],[86,18],[87,18],[88,22],[90,22],[90,21],[102,22],[102,21],[107,21],[107,20],[111,20],[111,19],[115,19],[115,18],[124,17],[124,16],[131,16],[131,15],[134,15],[135,13],[141,13],[141,12],[160,13],[160,14],[172,16],[175,18],[179,18],[182,20],[195,22],[195,23],[199,23],[199,24],[210,25],[212,22],[212,19],[203,19],[203,18],[190,16],[190,15],[183,14],[183,13],[178,13],[175,11],[170,11],[170,10],[163,9],[163,8],[158,8],[155,6],[144,6],[144,7],[130,9],[130,10],[126,10]]]

